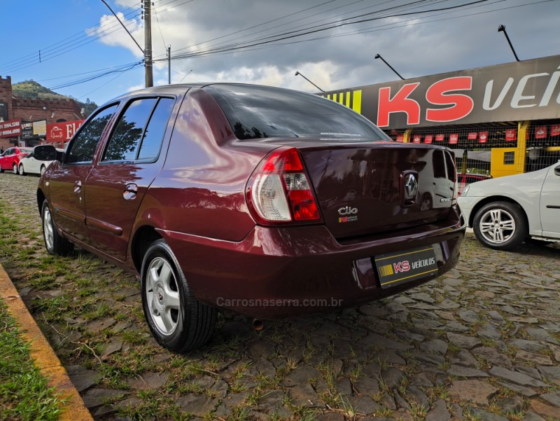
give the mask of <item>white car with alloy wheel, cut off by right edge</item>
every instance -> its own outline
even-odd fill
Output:
[[[491,249],[514,249],[527,239],[560,242],[560,163],[470,184],[458,204]]]

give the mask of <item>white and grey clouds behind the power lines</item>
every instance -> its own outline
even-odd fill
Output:
[[[383,7],[402,6],[400,11],[406,11],[407,3],[407,0],[394,0],[383,6],[379,3],[368,6],[331,1],[317,6],[321,1],[204,0],[172,4],[155,1],[152,18],[155,81],[167,84],[165,57],[169,44],[172,57],[177,57],[210,48],[235,47],[251,39],[262,41],[272,34],[340,22],[342,18],[379,11]],[[395,80],[398,76],[391,69],[381,60],[374,60],[376,53],[405,78],[510,62],[509,46],[496,31],[500,23],[511,28],[510,37],[517,41],[521,57],[559,54],[554,41],[560,32],[555,23],[560,14],[558,2],[512,7],[525,3],[526,0],[506,0],[503,4],[479,4],[453,13],[388,18],[279,41],[286,45],[266,44],[229,53],[174,59],[172,81],[262,83],[316,92],[304,78],[295,76],[295,71],[300,71],[323,90],[332,90]],[[137,7],[137,0],[118,0],[116,4],[126,10]],[[445,6],[456,4],[460,2],[449,0]],[[492,13],[496,8],[503,10]],[[467,16],[469,14],[472,16]],[[463,17],[451,19],[459,15]],[[124,19],[123,13],[119,16]],[[135,19],[127,20],[126,25],[144,48],[144,22]],[[433,22],[423,23],[429,20]],[[527,22],[534,22],[534,25],[528,28]],[[113,16],[102,16],[94,34],[103,34],[112,28],[111,36],[100,41],[108,46],[127,48],[141,57],[138,47],[120,25],[113,26],[115,23]],[[395,24],[400,27],[390,29]],[[363,32],[345,35],[357,31]],[[158,61],[162,59],[164,61]],[[191,69],[193,72],[185,78]]]

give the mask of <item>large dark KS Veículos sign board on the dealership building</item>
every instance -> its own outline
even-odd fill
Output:
[[[560,55],[321,94],[383,129],[560,118]]]

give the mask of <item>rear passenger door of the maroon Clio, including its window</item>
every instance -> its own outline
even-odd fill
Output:
[[[104,254],[126,260],[129,237],[144,194],[160,171],[169,97],[137,97],[124,107],[104,151],[85,183],[85,221],[90,242]]]

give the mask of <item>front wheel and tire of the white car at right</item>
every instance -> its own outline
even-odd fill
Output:
[[[519,247],[528,233],[521,207],[510,202],[491,202],[481,207],[472,228],[479,242],[497,250]]]

